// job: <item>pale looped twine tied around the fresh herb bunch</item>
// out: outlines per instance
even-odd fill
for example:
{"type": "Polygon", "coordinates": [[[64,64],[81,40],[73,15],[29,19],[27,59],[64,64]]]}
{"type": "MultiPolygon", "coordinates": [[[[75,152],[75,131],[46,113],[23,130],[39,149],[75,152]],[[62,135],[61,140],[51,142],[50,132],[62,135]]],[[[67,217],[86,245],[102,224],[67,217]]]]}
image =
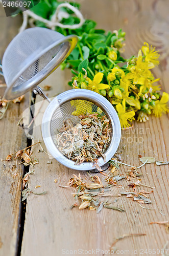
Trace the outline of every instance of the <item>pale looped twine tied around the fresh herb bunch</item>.
{"type": "Polygon", "coordinates": [[[53,14],[51,20],[42,18],[30,10],[24,11],[22,14],[23,14],[23,23],[19,29],[19,33],[27,28],[29,16],[32,17],[31,26],[33,23],[32,21],[39,20],[40,22],[43,22],[46,25],[46,27],[48,27],[52,30],[54,30],[55,27],[60,27],[60,28],[65,28],[65,29],[77,29],[77,28],[80,28],[83,25],[83,23],[85,22],[85,19],[84,19],[82,13],[76,7],[70,5],[69,3],[60,4],[57,7],[55,13],[53,14]],[[62,7],[66,7],[68,9],[70,9],[71,11],[73,11],[76,14],[76,16],[80,19],[80,23],[74,24],[74,25],[64,25],[64,24],[58,22],[60,8],[62,8],[62,7]]]}

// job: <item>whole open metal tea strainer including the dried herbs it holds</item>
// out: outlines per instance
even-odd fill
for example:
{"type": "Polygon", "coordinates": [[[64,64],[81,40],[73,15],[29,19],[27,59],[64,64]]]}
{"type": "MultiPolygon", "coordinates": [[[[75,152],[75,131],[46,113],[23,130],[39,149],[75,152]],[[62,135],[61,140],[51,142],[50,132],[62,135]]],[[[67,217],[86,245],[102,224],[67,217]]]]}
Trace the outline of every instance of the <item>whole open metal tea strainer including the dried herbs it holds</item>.
{"type": "Polygon", "coordinates": [[[5,97],[11,100],[32,89],[49,101],[42,120],[47,150],[69,168],[100,170],[116,152],[121,135],[111,103],[85,89],[66,91],[50,101],[37,86],[70,54],[76,43],[74,35],[65,37],[45,28],[31,28],[18,34],[2,61],[7,83],[5,97]]]}

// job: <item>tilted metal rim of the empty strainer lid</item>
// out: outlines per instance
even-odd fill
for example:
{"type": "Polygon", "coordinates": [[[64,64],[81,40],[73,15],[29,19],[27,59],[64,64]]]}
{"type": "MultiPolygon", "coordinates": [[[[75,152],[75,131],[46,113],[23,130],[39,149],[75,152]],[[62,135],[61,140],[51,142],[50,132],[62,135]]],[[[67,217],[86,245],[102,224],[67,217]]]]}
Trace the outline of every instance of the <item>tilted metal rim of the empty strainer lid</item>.
{"type": "MultiPolygon", "coordinates": [[[[4,94],[5,99],[12,100],[12,99],[18,98],[21,95],[32,90],[34,87],[36,87],[37,84],[42,82],[47,76],[49,76],[53,71],[55,71],[60,66],[60,64],[69,56],[71,51],[74,50],[74,48],[77,44],[77,41],[78,41],[78,37],[76,35],[68,35],[68,36],[63,35],[62,39],[54,42],[49,47],[45,48],[41,53],[36,55],[32,59],[32,61],[29,62],[28,65],[24,66],[23,69],[21,69],[20,72],[17,73],[16,76],[12,79],[11,84],[8,85],[8,87],[5,91],[5,94],[4,94]],[[31,79],[24,82],[24,84],[22,83],[19,86],[17,86],[16,88],[13,88],[13,86],[14,86],[15,82],[17,81],[17,79],[19,78],[19,76],[23,72],[25,72],[40,56],[42,56],[43,54],[45,54],[47,51],[51,50],[52,48],[61,45],[65,41],[70,42],[70,48],[67,51],[66,55],[59,62],[57,61],[57,55],[56,55],[39,73],[37,73],[31,79]]],[[[4,53],[4,56],[5,56],[5,53],[4,53]]],[[[3,62],[2,62],[2,64],[3,64],[3,62]]]]}

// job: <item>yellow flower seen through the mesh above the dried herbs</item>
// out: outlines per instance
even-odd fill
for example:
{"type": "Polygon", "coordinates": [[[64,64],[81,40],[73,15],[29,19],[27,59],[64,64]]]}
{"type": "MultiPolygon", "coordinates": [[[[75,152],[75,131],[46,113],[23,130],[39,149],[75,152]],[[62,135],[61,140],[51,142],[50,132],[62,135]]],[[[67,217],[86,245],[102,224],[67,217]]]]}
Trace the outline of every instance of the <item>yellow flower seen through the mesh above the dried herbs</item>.
{"type": "Polygon", "coordinates": [[[71,115],[80,116],[86,114],[92,114],[92,103],[83,99],[70,100],[70,104],[76,108],[71,115]]]}

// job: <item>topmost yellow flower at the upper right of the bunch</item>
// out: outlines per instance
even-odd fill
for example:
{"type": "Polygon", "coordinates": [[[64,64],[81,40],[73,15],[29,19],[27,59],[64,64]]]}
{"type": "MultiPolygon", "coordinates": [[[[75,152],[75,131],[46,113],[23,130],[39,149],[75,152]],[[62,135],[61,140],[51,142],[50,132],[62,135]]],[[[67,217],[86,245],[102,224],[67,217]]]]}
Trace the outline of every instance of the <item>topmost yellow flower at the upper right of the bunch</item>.
{"type": "Polygon", "coordinates": [[[145,60],[150,63],[152,68],[154,68],[155,65],[159,65],[159,53],[155,50],[155,47],[152,46],[149,47],[149,44],[147,42],[144,42],[144,45],[142,46],[141,50],[143,54],[146,56],[145,60]]]}

